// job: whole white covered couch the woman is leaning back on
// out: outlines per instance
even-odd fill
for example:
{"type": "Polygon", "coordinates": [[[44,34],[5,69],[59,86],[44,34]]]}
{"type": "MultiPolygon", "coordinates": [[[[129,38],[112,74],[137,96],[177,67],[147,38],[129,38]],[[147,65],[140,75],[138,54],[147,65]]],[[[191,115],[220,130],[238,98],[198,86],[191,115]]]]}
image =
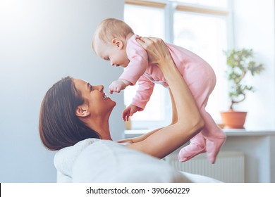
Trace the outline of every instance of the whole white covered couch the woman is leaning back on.
{"type": "Polygon", "coordinates": [[[219,182],[198,174],[178,172],[163,160],[114,141],[85,139],[54,156],[57,182],[219,182]]]}

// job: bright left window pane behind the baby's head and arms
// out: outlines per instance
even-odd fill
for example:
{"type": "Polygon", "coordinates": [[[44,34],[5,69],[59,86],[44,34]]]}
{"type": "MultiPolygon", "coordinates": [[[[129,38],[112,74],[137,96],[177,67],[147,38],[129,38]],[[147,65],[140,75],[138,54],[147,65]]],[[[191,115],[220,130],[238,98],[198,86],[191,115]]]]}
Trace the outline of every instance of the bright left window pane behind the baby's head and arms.
{"type": "MultiPolygon", "coordinates": [[[[161,37],[164,39],[164,9],[145,6],[125,5],[124,20],[133,28],[135,34],[142,37],[161,37]]],[[[135,96],[138,85],[127,87],[124,91],[124,103],[130,105],[135,96]]],[[[165,99],[166,89],[160,85],[155,85],[154,92],[147,103],[145,110],[135,113],[131,120],[133,128],[138,125],[140,128],[149,128],[149,121],[161,121],[165,119],[165,99]],[[135,124],[135,121],[142,121],[135,124]],[[144,124],[142,124],[144,123],[144,124]]],[[[154,124],[156,127],[156,124],[154,124]]]]}

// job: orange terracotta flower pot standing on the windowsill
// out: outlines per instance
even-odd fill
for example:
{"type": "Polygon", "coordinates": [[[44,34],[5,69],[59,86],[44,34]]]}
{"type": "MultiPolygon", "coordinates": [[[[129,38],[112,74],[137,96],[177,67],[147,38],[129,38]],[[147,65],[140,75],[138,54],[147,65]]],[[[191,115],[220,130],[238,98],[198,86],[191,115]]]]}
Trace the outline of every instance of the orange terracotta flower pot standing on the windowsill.
{"type": "Polygon", "coordinates": [[[228,129],[244,129],[245,118],[247,112],[229,110],[221,112],[221,120],[223,121],[224,127],[228,129]]]}

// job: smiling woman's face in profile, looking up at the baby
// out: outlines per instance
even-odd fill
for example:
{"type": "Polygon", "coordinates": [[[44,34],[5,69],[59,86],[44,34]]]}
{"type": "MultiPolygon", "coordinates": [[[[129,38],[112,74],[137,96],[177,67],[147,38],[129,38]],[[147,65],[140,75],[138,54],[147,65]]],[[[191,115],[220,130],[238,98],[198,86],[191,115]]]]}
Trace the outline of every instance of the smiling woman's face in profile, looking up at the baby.
{"type": "Polygon", "coordinates": [[[89,106],[91,115],[105,115],[111,113],[111,110],[116,106],[116,102],[106,96],[102,85],[92,86],[83,80],[73,79],[75,88],[80,91],[85,103],[89,106]]]}

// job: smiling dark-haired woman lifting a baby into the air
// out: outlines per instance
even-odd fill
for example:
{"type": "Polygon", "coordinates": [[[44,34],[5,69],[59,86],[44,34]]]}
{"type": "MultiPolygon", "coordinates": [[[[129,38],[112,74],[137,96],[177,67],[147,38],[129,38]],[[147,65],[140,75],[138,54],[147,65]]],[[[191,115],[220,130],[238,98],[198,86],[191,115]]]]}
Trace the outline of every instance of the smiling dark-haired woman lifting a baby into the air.
{"type": "MultiPolygon", "coordinates": [[[[150,63],[164,73],[172,94],[173,121],[156,129],[126,147],[164,158],[200,132],[204,122],[183,77],[176,69],[161,39],[140,38],[150,63]]],[[[44,146],[60,150],[85,139],[111,141],[109,116],[116,103],[104,94],[102,85],[93,86],[83,80],[66,77],[47,91],[42,101],[39,134],[44,146]]]]}

